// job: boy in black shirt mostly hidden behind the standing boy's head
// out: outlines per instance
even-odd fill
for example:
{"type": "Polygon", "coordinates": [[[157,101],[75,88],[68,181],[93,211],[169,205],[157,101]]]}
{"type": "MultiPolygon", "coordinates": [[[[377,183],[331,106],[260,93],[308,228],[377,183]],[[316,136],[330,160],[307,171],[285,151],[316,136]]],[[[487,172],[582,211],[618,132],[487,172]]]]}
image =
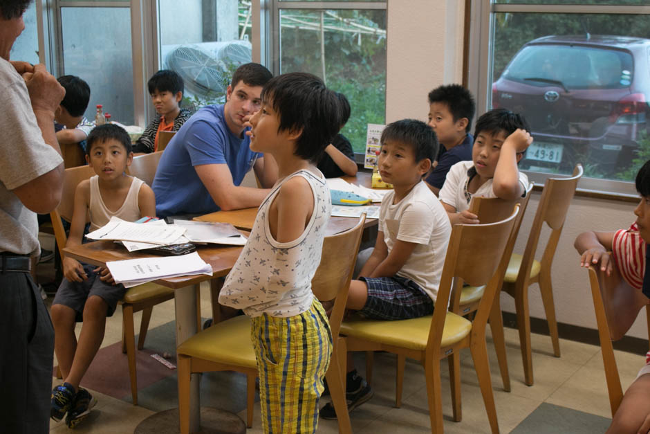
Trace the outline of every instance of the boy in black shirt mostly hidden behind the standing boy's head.
{"type": "MultiPolygon", "coordinates": [[[[350,103],[343,93],[337,92],[341,104],[341,128],[350,118],[350,103]]],[[[357,163],[354,161],[354,151],[350,141],[343,134],[336,134],[332,143],[327,145],[325,153],[316,166],[326,178],[337,178],[344,175],[354,177],[357,174],[357,163]]]]}

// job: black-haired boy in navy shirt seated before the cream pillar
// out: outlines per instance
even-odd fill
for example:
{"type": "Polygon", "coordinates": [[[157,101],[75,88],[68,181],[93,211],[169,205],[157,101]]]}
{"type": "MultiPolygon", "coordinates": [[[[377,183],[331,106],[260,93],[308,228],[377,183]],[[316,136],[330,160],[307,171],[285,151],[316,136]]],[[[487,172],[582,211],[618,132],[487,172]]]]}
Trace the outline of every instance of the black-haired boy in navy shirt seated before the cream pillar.
{"type": "Polygon", "coordinates": [[[447,84],[429,92],[429,126],[434,129],[440,150],[433,170],[425,179],[427,186],[438,195],[443,188],[449,168],[458,161],[472,159],[470,134],[476,103],[472,93],[460,84],[447,84]]]}

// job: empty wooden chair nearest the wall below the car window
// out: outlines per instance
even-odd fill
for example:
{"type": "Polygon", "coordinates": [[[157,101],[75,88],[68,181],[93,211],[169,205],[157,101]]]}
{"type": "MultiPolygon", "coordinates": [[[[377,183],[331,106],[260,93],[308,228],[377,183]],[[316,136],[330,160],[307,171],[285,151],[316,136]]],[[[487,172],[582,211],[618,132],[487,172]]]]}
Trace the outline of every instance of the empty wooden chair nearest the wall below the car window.
{"type": "Polygon", "coordinates": [[[582,165],[577,164],[573,176],[568,178],[548,178],[541,192],[537,213],[532,221],[528,234],[528,242],[523,255],[513,253],[508,269],[505,271],[501,289],[514,298],[517,311],[517,326],[519,327],[519,342],[523,359],[524,382],[532,386],[532,354],[530,349],[530,314],[528,312],[528,287],[539,283],[541,298],[544,302],[546,320],[553,342],[553,354],[559,357],[559,337],[557,336],[557,321],[555,320],[555,305],[553,303],[553,286],[550,280],[550,269],[553,265],[555,248],[564,227],[564,219],[573,199],[577,183],[582,177],[582,165]],[[541,261],[535,260],[535,252],[539,243],[544,223],[551,232],[546,242],[541,261]]]}

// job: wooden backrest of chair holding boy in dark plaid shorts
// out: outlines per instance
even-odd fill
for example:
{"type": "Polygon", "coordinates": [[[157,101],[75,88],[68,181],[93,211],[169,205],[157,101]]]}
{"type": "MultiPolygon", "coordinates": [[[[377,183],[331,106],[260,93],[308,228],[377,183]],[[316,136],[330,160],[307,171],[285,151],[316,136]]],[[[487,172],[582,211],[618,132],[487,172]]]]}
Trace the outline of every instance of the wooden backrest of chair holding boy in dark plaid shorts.
{"type": "MultiPolygon", "coordinates": [[[[483,327],[485,327],[490,307],[492,307],[492,300],[490,299],[487,309],[483,300],[490,298],[490,293],[492,297],[496,293],[496,284],[499,280],[499,275],[496,273],[497,267],[505,260],[503,251],[508,244],[518,213],[519,205],[517,204],[507,219],[489,224],[456,224],[452,226],[452,235],[449,238],[436,305],[447,306],[452,285],[461,284],[459,283],[461,281],[467,282],[473,287],[487,285],[481,304],[479,304],[479,310],[474,317],[474,323],[483,320],[483,327]]],[[[440,347],[446,317],[447,309],[434,309],[427,351],[440,347]]]]}

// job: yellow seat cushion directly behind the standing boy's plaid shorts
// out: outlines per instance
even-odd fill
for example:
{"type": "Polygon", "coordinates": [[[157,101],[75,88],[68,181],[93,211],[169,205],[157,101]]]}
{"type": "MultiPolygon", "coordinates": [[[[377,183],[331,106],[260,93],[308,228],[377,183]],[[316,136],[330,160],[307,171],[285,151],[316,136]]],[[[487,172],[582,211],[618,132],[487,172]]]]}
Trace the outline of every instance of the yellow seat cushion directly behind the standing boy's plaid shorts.
{"type": "Polygon", "coordinates": [[[198,332],[180,344],[176,353],[244,368],[257,368],[250,341],[250,318],[245,315],[216,323],[209,329],[198,332]]]}

